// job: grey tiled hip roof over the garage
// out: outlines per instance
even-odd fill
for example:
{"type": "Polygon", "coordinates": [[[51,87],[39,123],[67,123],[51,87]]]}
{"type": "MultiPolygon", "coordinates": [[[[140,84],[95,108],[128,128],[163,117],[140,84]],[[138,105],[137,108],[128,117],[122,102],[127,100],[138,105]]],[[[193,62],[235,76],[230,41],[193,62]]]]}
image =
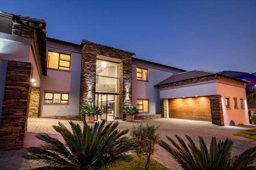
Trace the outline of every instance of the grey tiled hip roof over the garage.
{"type": "Polygon", "coordinates": [[[220,73],[215,72],[215,71],[195,69],[195,70],[186,71],[186,72],[183,72],[183,73],[174,74],[174,75],[170,76],[169,78],[163,80],[162,82],[159,82],[155,86],[174,83],[174,82],[180,82],[180,81],[184,81],[184,80],[188,80],[188,79],[194,79],[194,78],[198,78],[198,77],[213,76],[213,75],[220,76],[220,77],[225,77],[225,78],[229,78],[229,79],[234,79],[234,80],[239,81],[239,82],[246,82],[244,80],[236,79],[234,77],[229,77],[229,76],[220,74],[220,73]]]}

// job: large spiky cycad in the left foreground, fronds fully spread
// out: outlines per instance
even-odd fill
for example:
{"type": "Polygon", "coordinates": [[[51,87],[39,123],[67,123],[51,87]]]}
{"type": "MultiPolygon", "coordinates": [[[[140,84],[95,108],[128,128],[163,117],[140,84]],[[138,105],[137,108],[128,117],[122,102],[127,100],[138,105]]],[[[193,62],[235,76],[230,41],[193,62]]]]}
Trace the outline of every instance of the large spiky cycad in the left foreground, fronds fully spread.
{"type": "Polygon", "coordinates": [[[61,134],[65,143],[48,134],[36,137],[46,143],[40,147],[28,148],[29,154],[25,159],[45,162],[44,167],[36,170],[101,170],[112,168],[119,161],[131,161],[132,157],[125,154],[136,149],[132,139],[124,136],[128,130],[116,129],[118,122],[105,125],[96,122],[94,126],[84,122],[83,130],[78,124],[69,122],[72,131],[61,122],[52,127],[61,134]]]}

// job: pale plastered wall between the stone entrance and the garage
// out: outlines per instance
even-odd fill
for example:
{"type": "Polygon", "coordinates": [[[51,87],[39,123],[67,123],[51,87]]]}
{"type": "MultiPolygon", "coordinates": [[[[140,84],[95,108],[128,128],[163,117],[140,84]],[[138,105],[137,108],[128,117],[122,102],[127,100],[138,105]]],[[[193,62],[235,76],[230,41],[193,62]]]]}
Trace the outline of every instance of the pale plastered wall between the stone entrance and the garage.
{"type": "MultiPolygon", "coordinates": [[[[157,83],[167,79],[172,74],[181,71],[164,68],[157,65],[152,65],[144,62],[133,61],[132,64],[132,104],[137,107],[137,99],[148,99],[149,113],[145,114],[158,114],[159,113],[159,93],[158,88],[154,87],[157,83]],[[137,80],[136,68],[148,69],[148,82],[137,80]]],[[[144,114],[144,113],[140,113],[144,114]]]]}

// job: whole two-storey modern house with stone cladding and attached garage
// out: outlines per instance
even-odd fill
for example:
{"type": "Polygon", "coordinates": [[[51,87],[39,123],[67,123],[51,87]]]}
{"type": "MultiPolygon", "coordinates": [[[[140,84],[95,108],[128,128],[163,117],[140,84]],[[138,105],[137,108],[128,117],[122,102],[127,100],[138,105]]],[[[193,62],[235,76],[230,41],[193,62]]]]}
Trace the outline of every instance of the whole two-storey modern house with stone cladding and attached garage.
{"type": "Polygon", "coordinates": [[[36,18],[0,12],[0,23],[0,150],[22,147],[28,116],[80,120],[84,102],[100,108],[95,120],[123,120],[123,108],[133,105],[137,119],[249,124],[244,80],[88,40],[56,40],[36,18]]]}

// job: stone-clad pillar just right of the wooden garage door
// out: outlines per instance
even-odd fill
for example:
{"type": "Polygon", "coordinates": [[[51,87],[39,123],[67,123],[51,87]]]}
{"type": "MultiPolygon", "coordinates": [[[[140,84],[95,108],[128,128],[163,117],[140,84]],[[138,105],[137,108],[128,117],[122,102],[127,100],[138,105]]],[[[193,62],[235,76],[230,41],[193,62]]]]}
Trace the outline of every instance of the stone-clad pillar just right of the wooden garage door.
{"type": "Polygon", "coordinates": [[[221,102],[221,95],[209,96],[212,114],[212,124],[224,126],[223,109],[221,102]]]}

